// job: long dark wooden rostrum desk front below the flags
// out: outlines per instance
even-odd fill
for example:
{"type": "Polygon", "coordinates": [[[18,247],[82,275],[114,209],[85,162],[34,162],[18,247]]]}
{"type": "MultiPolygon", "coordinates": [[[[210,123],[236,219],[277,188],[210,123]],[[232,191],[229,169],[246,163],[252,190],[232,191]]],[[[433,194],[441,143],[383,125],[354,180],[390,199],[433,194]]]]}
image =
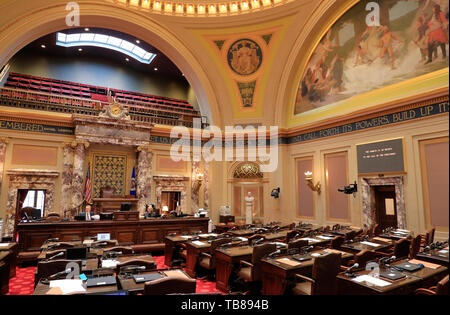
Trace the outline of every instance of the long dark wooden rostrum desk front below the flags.
{"type": "Polygon", "coordinates": [[[171,233],[189,234],[208,231],[209,218],[141,219],[130,221],[61,221],[17,224],[21,251],[38,251],[50,238],[60,241],[86,239],[98,233],[110,233],[119,244],[163,244],[171,233]]]}

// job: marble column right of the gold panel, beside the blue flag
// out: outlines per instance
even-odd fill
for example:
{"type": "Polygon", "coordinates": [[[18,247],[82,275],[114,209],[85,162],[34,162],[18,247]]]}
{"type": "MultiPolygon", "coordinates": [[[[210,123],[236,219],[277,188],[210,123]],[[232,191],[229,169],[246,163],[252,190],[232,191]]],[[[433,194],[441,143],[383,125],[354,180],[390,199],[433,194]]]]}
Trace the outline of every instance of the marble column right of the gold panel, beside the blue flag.
{"type": "Polygon", "coordinates": [[[150,205],[153,153],[148,146],[139,146],[137,151],[136,196],[139,199],[139,213],[144,214],[145,205],[150,205]]]}

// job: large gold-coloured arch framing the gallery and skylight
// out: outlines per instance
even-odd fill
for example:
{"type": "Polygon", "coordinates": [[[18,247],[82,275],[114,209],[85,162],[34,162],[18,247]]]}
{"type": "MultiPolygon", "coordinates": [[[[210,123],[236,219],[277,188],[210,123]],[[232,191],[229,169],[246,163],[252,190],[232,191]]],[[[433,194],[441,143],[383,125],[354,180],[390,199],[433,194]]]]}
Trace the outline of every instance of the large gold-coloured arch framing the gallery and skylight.
{"type": "MultiPolygon", "coordinates": [[[[23,1],[23,6],[30,6],[23,1]]],[[[19,6],[20,4],[15,4],[19,6]]],[[[0,68],[30,42],[67,29],[66,3],[31,5],[26,16],[15,16],[0,25],[0,68]]],[[[5,8],[8,11],[8,8],[5,8]]],[[[220,109],[214,89],[201,64],[183,42],[161,23],[148,15],[110,3],[83,3],[80,27],[99,27],[117,30],[140,38],[163,52],[185,75],[192,86],[202,115],[211,124],[222,126],[220,109]]]]}

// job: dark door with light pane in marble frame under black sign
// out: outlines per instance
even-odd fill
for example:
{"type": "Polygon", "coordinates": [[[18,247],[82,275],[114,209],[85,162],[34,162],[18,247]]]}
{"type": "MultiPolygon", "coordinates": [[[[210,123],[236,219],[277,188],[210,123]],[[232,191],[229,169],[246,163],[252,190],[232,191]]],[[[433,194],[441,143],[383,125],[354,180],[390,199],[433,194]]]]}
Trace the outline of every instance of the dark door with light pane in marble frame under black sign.
{"type": "Polygon", "coordinates": [[[398,228],[395,186],[374,186],[376,222],[381,229],[398,228]]]}

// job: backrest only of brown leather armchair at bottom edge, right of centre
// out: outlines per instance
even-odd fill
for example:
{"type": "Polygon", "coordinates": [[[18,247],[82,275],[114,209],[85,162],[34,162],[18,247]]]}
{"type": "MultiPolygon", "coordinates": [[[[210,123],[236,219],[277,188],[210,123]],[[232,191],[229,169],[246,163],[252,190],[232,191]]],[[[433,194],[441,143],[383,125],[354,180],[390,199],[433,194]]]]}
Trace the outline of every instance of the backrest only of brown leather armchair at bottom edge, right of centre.
{"type": "Polygon", "coordinates": [[[338,291],[337,274],[340,271],[341,254],[330,253],[316,257],[314,260],[312,278],[313,295],[336,295],[338,291]]]}

